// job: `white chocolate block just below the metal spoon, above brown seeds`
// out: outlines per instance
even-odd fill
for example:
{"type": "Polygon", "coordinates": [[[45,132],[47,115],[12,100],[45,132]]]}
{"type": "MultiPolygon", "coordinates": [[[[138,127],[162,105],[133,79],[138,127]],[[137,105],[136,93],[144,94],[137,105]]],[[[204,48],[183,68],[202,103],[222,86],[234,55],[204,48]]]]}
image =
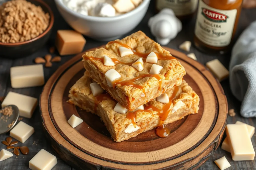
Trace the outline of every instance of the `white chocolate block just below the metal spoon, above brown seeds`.
{"type": "Polygon", "coordinates": [[[33,133],[35,132],[34,127],[20,121],[10,131],[10,136],[18,141],[24,143],[33,133]]]}

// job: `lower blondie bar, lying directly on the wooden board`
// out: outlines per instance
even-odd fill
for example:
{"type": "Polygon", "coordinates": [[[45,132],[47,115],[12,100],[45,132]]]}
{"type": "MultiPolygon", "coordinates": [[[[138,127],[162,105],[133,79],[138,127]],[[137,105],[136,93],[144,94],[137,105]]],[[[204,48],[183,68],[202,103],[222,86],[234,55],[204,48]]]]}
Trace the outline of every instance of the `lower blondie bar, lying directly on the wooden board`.
{"type": "MultiPolygon", "coordinates": [[[[163,104],[154,99],[142,108],[140,107],[140,110],[127,111],[124,114],[114,111],[117,101],[109,94],[103,93],[93,96],[90,88],[92,82],[89,72],[85,72],[84,76],[71,87],[68,102],[100,116],[116,142],[127,140],[153,129],[159,126],[161,122],[167,124],[180,120],[184,116],[197,113],[199,109],[199,97],[185,80],[182,81],[180,86],[166,92],[168,97],[173,98],[169,102],[173,104],[171,111],[164,111],[164,107],[169,103],[163,104]],[[145,110],[143,110],[144,107],[145,110]]],[[[159,136],[159,134],[157,135],[159,136]]]]}

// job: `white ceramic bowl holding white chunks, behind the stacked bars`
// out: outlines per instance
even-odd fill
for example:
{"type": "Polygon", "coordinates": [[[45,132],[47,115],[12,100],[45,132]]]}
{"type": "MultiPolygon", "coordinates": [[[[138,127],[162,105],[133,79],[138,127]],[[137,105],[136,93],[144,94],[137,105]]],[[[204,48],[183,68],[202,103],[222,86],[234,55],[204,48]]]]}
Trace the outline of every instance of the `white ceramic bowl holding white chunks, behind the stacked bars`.
{"type": "Polygon", "coordinates": [[[55,3],[74,30],[99,41],[110,41],[130,32],[141,22],[150,0],[143,0],[134,10],[115,17],[85,16],[69,9],[63,0],[55,0],[55,3]]]}

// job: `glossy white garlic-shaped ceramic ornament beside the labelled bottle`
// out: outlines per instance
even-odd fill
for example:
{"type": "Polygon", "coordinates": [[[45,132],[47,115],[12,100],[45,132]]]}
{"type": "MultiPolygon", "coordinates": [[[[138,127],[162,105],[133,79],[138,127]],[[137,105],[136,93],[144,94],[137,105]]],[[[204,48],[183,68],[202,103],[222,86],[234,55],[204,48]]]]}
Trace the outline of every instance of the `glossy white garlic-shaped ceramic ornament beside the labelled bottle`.
{"type": "Polygon", "coordinates": [[[182,30],[181,21],[176,18],[172,9],[162,9],[148,20],[148,27],[161,45],[168,44],[182,30]]]}

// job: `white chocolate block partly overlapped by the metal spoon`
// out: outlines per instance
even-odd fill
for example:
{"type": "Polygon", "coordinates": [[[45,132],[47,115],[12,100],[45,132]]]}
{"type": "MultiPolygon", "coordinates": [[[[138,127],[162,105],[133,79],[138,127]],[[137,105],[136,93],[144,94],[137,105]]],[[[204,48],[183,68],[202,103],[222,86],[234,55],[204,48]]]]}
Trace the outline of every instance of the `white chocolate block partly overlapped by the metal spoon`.
{"type": "Polygon", "coordinates": [[[19,108],[19,116],[31,118],[37,106],[37,99],[9,91],[2,103],[2,108],[10,104],[19,108]]]}

